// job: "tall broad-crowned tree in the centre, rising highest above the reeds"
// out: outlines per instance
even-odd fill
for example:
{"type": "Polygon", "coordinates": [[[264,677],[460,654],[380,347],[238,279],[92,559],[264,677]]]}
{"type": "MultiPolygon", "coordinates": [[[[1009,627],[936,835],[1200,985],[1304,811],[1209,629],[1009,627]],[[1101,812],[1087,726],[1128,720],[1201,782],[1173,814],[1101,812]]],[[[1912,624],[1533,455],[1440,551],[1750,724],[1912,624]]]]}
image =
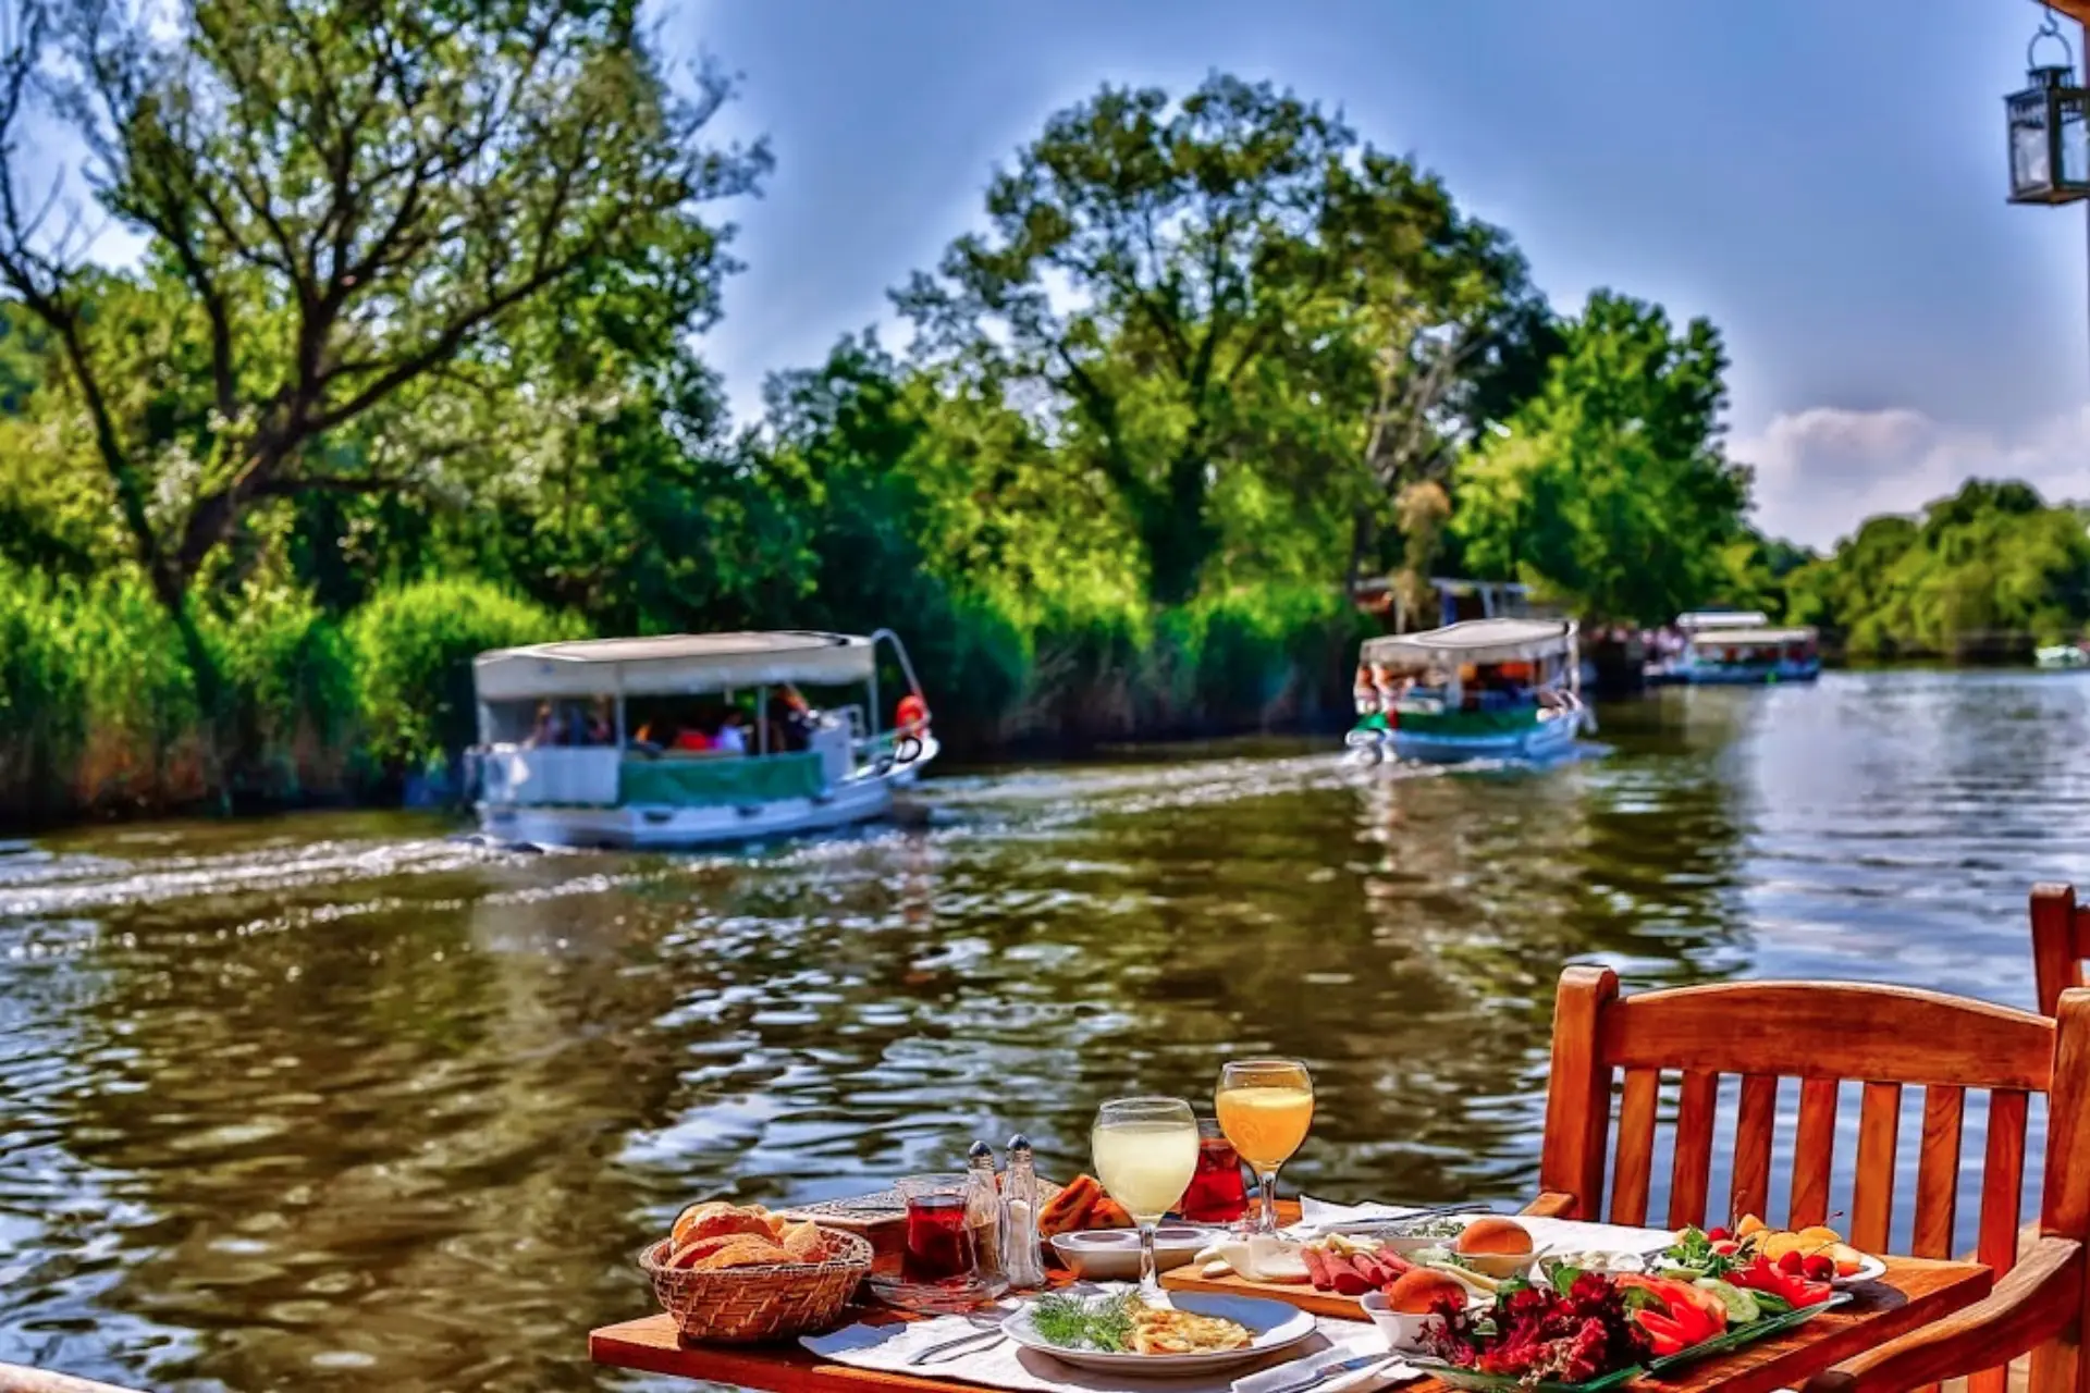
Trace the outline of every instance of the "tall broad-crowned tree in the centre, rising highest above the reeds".
{"type": "Polygon", "coordinates": [[[1290,497],[1346,528],[1423,426],[1530,372],[1545,320],[1507,238],[1442,184],[1237,77],[1053,115],[989,186],[986,223],[897,303],[932,361],[1112,485],[1164,604],[1223,547],[1216,499],[1290,497]]]}

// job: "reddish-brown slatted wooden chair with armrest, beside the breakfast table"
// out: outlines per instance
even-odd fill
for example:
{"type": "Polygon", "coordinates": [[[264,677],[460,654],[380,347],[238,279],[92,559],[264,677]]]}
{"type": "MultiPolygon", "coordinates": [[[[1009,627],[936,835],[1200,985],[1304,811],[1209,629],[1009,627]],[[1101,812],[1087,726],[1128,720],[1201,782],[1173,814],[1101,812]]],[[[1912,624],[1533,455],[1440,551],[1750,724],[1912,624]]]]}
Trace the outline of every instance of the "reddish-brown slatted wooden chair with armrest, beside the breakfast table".
{"type": "MultiPolygon", "coordinates": [[[[1914,1257],[1950,1257],[1969,1090],[1990,1094],[1981,1159],[1979,1259],[1996,1293],[1839,1370],[1820,1391],[1891,1393],[1973,1374],[1973,1393],[2002,1393],[2002,1364],[2034,1351],[2031,1393],[2071,1387],[2090,1238],[2090,992],[2067,994],[2061,1019],[1937,992],[1858,984],[1743,982],[1618,994],[1603,967],[1561,973],[1553,1076],[1532,1213],[1645,1224],[1664,1071],[1680,1073],[1668,1224],[1705,1224],[1720,1076],[1739,1078],[1733,1182],[1720,1218],[1768,1215],[1779,1080],[1797,1080],[1791,1228],[1829,1215],[1837,1088],[1862,1084],[1848,1232],[1887,1247],[1894,1151],[1904,1088],[1923,1088],[1923,1151],[1912,1197],[1914,1257]],[[1618,1144],[1611,1096],[1618,1084],[1618,1144]],[[2025,1113],[2048,1092],[2040,1238],[2017,1247],[2025,1113]]],[[[2090,1362],[2086,1362],[2090,1364],[2090,1362]]],[[[2077,1393],[2090,1393],[2084,1385],[2077,1393]]]]}

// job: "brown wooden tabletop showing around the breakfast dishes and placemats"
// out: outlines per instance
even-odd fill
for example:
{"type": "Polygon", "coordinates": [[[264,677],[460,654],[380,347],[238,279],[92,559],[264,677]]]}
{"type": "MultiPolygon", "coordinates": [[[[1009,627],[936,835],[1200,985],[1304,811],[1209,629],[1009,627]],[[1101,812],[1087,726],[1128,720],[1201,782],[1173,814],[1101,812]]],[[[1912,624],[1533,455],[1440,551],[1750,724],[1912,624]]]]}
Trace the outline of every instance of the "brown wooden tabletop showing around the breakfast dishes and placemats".
{"type": "MultiPolygon", "coordinates": [[[[1810,1374],[1881,1341],[1950,1316],[1988,1295],[1994,1274],[1979,1264],[1889,1257],[1887,1274],[1852,1289],[1852,1301],[1781,1337],[1689,1364],[1668,1378],[1639,1378],[1626,1389],[1647,1393],[1772,1393],[1799,1387],[1810,1374]]],[[[869,1320],[901,1320],[890,1312],[869,1320]]],[[[669,1316],[627,1320],[587,1337],[587,1357],[648,1374],[679,1374],[771,1393],[951,1393],[978,1385],[953,1378],[890,1374],[821,1360],[798,1343],[686,1345],[669,1316]]],[[[1158,1387],[1158,1385],[1147,1385],[1158,1387]]],[[[1434,1378],[1398,1385],[1404,1393],[1450,1393],[1434,1378]]]]}

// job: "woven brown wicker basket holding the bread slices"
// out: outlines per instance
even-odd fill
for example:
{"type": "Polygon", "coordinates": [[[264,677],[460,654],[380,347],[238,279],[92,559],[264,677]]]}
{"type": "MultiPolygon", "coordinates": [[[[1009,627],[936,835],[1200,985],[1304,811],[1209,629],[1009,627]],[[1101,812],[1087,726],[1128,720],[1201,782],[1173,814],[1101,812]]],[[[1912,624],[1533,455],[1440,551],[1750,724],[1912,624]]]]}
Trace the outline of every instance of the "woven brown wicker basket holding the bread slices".
{"type": "Polygon", "coordinates": [[[811,1264],[686,1272],[667,1266],[673,1243],[663,1241],[640,1253],[640,1268],[686,1339],[782,1341],[832,1326],[872,1270],[872,1245],[857,1234],[821,1228],[819,1236],[821,1259],[811,1264]]]}

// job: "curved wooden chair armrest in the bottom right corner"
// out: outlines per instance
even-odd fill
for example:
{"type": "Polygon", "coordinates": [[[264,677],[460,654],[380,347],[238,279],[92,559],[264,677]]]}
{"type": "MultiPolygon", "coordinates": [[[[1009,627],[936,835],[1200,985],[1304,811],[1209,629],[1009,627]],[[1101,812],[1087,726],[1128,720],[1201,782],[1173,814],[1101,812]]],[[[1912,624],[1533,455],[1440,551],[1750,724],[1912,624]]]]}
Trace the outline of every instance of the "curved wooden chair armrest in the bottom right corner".
{"type": "Polygon", "coordinates": [[[1822,1370],[1802,1393],[1904,1393],[1996,1368],[2073,1326],[2082,1307],[2082,1245],[2040,1238],[1985,1301],[1822,1370]]]}

